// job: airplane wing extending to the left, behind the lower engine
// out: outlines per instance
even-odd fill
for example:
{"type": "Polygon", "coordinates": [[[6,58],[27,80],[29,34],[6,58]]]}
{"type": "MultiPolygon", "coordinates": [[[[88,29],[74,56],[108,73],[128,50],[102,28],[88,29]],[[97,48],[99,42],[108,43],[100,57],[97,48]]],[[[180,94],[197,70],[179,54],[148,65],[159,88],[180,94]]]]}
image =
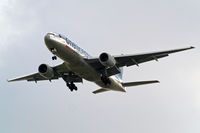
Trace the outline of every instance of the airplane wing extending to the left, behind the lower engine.
{"type": "MultiPolygon", "coordinates": [[[[68,80],[70,80],[70,82],[82,82],[82,78],[80,78],[77,75],[72,75],[69,74],[71,73],[71,71],[66,67],[66,64],[60,64],[57,65],[55,67],[52,67],[54,70],[54,77],[51,78],[50,80],[55,80],[58,79],[60,77],[63,78],[63,80],[65,80],[66,82],[68,82],[68,80]]],[[[33,73],[27,76],[23,76],[23,77],[19,77],[19,78],[14,78],[11,80],[8,80],[8,82],[13,82],[13,81],[21,81],[21,80],[27,80],[27,81],[42,81],[42,80],[49,80],[43,76],[41,76],[39,73],[33,73]]]]}

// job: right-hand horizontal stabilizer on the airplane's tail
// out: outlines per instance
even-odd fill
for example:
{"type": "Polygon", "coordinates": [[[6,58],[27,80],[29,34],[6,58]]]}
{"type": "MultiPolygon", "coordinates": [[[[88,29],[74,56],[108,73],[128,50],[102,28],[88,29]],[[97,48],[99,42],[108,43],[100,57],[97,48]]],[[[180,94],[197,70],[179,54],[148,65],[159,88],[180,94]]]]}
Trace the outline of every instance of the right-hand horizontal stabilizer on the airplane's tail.
{"type": "Polygon", "coordinates": [[[150,80],[150,81],[127,82],[127,83],[122,83],[122,86],[130,87],[130,86],[153,84],[153,83],[159,83],[159,81],[158,80],[150,80]]]}

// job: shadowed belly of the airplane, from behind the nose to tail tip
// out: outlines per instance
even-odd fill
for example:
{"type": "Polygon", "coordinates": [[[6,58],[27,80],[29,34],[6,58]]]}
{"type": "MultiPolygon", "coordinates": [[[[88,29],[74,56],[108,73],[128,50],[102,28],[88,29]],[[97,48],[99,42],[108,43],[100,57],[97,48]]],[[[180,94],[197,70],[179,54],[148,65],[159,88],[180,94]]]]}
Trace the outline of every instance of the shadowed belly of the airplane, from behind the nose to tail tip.
{"type": "Polygon", "coordinates": [[[109,77],[111,84],[105,85],[101,80],[101,75],[97,71],[95,71],[95,69],[93,69],[90,65],[88,65],[84,61],[83,57],[81,57],[77,53],[68,51],[64,45],[57,49],[59,51],[59,54],[57,56],[63,59],[66,62],[67,66],[76,75],[84,78],[85,80],[93,81],[103,88],[125,92],[125,89],[122,87],[121,83],[118,83],[118,81],[113,77],[109,77]]]}

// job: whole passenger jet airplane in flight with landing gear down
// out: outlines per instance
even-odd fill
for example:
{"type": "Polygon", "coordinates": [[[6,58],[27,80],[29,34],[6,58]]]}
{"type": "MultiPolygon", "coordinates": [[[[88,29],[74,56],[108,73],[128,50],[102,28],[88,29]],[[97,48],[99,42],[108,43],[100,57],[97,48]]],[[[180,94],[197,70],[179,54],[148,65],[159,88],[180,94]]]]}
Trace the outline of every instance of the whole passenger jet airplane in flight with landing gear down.
{"type": "Polygon", "coordinates": [[[107,91],[126,92],[126,87],[159,83],[159,81],[123,82],[122,75],[124,66],[139,66],[139,64],[144,62],[152,60],[158,61],[158,59],[167,57],[171,53],[194,48],[191,46],[167,51],[119,56],[112,56],[103,52],[99,57],[92,57],[62,34],[54,32],[47,33],[44,37],[44,42],[53,54],[52,60],[56,60],[59,57],[64,62],[54,67],[41,64],[38,67],[38,72],[11,79],[8,82],[27,80],[37,83],[37,81],[51,81],[62,78],[70,91],[77,91],[78,88],[74,83],[82,83],[83,79],[85,79],[100,86],[100,89],[93,91],[94,94],[107,91]]]}

